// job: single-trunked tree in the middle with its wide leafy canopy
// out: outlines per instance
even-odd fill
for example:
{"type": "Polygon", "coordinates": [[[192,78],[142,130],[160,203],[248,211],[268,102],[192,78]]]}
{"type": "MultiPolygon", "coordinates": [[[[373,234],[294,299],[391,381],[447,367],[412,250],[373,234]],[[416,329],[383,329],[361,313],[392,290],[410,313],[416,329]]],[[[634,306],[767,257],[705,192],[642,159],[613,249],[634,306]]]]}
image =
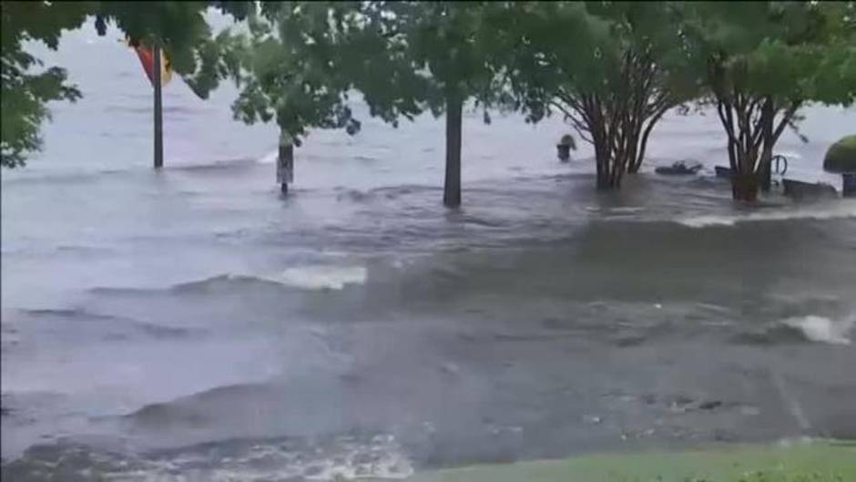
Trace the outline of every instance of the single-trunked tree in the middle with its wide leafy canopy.
{"type": "Polygon", "coordinates": [[[298,142],[309,128],[358,130],[352,92],[362,94],[372,117],[393,126],[451,108],[444,199],[456,205],[461,108],[471,98],[487,106],[499,92],[489,26],[496,9],[475,2],[262,2],[250,13],[249,34],[224,34],[199,49],[202,67],[189,83],[205,95],[233,78],[241,87],[236,118],[275,119],[298,142]]]}

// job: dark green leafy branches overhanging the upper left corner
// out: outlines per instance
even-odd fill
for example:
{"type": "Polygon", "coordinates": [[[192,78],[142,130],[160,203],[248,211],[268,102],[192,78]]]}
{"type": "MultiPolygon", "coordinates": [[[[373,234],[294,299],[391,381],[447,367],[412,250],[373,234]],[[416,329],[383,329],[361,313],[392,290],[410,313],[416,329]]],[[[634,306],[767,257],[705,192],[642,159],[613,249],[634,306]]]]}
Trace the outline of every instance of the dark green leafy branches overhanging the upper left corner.
{"type": "Polygon", "coordinates": [[[188,74],[197,67],[196,50],[210,36],[204,13],[209,7],[242,18],[250,2],[3,2],[2,108],[0,165],[24,165],[28,153],[41,146],[39,129],[50,117],[46,104],[74,101],[80,91],[66,82],[62,67],[44,67],[25,52],[27,41],[40,41],[56,50],[59,38],[92,22],[99,35],[115,25],[129,38],[162,46],[173,68],[188,74]]]}

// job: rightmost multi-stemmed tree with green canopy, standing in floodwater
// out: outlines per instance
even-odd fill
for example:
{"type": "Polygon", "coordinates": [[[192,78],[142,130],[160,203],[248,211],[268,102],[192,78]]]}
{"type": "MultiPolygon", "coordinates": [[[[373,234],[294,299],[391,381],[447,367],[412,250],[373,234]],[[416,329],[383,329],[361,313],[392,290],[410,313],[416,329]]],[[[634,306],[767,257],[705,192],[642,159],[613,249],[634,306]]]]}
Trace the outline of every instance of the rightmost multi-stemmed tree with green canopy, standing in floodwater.
{"type": "Polygon", "coordinates": [[[734,198],[755,200],[798,109],[856,98],[856,10],[852,2],[688,2],[681,13],[694,54],[688,69],[725,129],[734,198]]]}

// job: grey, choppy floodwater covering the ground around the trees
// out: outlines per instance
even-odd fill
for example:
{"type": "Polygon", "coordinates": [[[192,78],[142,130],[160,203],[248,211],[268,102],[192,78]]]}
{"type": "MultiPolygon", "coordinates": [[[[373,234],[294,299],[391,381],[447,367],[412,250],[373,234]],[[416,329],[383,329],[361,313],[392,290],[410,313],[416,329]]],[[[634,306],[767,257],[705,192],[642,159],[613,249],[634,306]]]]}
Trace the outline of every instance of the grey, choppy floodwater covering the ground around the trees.
{"type": "MultiPolygon", "coordinates": [[[[713,178],[712,116],[671,116],[645,172],[594,190],[560,119],[464,120],[464,207],[441,206],[443,119],[276,131],[150,87],[117,38],[67,34],[82,87],[2,179],[3,475],[402,478],[649,446],[856,436],[856,203],[713,178]],[[653,167],[705,163],[701,176],[653,167]]],[[[365,109],[357,108],[358,114],[365,109]]],[[[789,177],[856,112],[808,108],[789,177]]],[[[850,130],[848,130],[850,129],[850,130]]]]}

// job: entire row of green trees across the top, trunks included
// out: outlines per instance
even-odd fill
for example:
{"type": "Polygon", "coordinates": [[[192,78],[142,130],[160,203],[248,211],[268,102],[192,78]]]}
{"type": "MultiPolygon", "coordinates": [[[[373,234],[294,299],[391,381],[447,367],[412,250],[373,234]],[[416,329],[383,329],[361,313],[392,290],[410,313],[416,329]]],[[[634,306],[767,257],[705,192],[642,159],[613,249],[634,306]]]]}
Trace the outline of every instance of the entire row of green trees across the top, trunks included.
{"type": "Polygon", "coordinates": [[[605,190],[637,172],[668,110],[714,108],[734,198],[755,200],[769,189],[773,149],[785,128],[797,128],[799,108],[856,99],[856,2],[30,5],[2,7],[4,165],[37,147],[46,101],[79,96],[61,69],[30,73],[36,59],[21,41],[56,46],[62,28],[87,19],[164,46],[202,96],[236,82],[235,117],[275,121],[298,146],[312,128],[358,131],[354,92],[392,125],[444,114],[449,206],[461,203],[466,106],[483,109],[485,122],[494,109],[532,122],[561,115],[593,146],[605,190]],[[247,28],[211,36],[202,17],[211,6],[247,28]]]}

